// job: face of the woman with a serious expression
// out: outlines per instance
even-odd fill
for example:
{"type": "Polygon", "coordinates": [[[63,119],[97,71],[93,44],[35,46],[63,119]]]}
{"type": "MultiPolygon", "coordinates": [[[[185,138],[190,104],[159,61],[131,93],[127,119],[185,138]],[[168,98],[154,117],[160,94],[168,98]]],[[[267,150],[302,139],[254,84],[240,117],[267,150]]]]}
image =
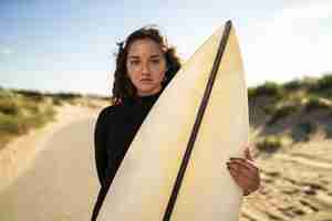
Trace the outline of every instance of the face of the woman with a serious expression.
{"type": "Polygon", "coordinates": [[[138,96],[156,94],[162,90],[166,60],[160,46],[153,40],[141,39],[131,43],[126,69],[138,96]]]}

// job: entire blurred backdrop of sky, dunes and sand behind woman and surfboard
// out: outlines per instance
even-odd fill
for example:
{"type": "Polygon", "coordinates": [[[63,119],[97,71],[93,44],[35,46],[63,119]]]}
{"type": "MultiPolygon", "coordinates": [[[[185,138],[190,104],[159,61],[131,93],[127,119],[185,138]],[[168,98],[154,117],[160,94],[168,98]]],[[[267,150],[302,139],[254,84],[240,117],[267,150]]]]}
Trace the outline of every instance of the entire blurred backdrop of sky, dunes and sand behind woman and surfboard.
{"type": "Polygon", "coordinates": [[[86,220],[97,189],[92,149],[68,149],[92,146],[92,118],[111,104],[116,42],[157,24],[185,62],[227,20],[242,52],[262,178],[240,220],[331,220],[329,0],[0,0],[0,220],[86,220]],[[61,172],[70,169],[75,178],[61,172]],[[82,198],[64,206],[71,194],[82,198]]]}

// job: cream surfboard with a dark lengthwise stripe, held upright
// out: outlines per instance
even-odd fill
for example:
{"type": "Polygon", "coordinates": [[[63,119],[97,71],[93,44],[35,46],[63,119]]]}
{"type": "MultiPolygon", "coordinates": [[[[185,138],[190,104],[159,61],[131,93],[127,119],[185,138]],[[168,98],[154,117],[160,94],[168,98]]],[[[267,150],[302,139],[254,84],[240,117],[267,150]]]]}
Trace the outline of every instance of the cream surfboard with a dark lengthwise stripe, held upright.
{"type": "Polygon", "coordinates": [[[243,65],[230,21],[183,65],[137,131],[97,220],[236,221],[226,162],[248,141],[243,65]]]}

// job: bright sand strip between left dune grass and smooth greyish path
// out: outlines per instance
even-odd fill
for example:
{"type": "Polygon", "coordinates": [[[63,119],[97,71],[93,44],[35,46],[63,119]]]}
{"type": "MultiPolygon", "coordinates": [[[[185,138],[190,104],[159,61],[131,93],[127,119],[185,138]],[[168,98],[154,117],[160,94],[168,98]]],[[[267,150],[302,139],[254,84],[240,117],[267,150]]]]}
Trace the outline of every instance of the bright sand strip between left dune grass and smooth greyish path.
{"type": "Polygon", "coordinates": [[[46,126],[30,130],[0,151],[0,192],[28,169],[45,147],[44,143],[49,140],[54,133],[61,130],[66,125],[86,117],[96,117],[98,110],[65,105],[58,108],[55,120],[46,126]]]}

